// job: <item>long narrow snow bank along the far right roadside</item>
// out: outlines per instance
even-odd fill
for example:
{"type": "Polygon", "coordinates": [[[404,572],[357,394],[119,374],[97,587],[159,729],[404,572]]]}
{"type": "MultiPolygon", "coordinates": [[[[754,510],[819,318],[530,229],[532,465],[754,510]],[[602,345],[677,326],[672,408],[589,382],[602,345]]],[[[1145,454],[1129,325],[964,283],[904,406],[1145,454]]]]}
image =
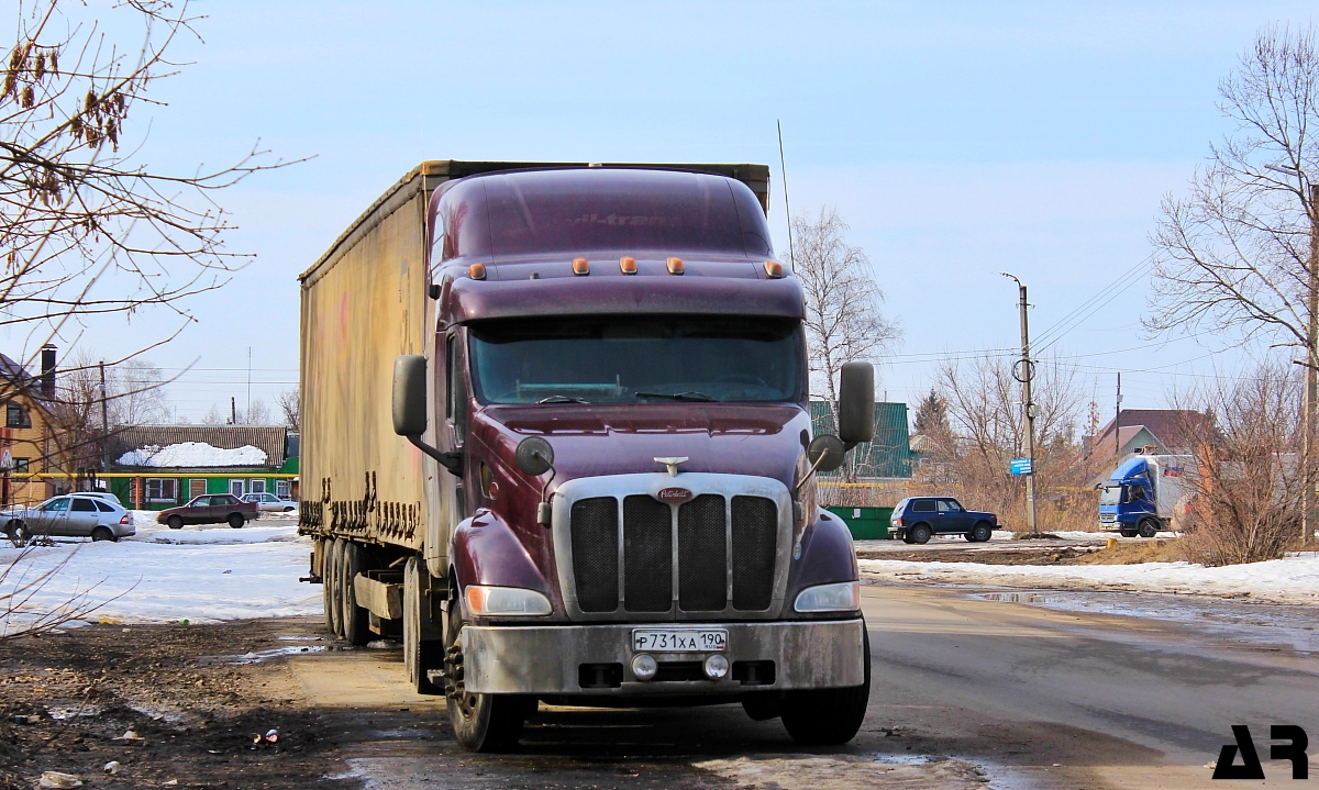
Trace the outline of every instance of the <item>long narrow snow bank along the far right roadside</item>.
{"type": "Polygon", "coordinates": [[[882,582],[1249,595],[1252,600],[1319,604],[1319,557],[1304,555],[1217,568],[1186,562],[1029,566],[893,559],[863,559],[860,567],[863,579],[882,582]]]}

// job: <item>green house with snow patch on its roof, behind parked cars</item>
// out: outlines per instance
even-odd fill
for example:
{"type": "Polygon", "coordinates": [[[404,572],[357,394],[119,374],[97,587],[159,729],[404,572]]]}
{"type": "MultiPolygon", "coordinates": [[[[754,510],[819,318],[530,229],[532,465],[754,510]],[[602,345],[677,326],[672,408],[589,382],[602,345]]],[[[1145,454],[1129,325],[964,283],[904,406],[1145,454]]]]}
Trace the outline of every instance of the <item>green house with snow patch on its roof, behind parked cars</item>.
{"type": "Polygon", "coordinates": [[[298,435],[282,425],[144,425],[112,431],[111,491],[173,508],[203,493],[297,497],[298,435]]]}

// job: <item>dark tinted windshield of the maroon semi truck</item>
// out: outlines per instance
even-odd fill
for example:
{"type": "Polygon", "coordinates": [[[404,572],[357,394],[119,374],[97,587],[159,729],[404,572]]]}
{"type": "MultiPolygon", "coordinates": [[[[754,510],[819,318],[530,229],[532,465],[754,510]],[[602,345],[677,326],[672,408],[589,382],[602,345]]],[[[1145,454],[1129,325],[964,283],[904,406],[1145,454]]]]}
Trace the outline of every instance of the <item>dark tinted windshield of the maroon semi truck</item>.
{"type": "Polygon", "coordinates": [[[468,334],[483,404],[799,401],[790,319],[592,317],[499,320],[468,334]]]}

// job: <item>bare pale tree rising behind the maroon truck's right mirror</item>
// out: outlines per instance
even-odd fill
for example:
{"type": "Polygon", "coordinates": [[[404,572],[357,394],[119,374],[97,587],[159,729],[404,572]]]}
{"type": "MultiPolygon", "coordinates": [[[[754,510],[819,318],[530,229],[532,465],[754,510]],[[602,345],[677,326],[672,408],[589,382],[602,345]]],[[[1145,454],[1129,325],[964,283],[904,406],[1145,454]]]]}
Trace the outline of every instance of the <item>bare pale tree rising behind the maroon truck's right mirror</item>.
{"type": "MultiPolygon", "coordinates": [[[[793,272],[806,301],[806,343],[813,396],[828,404],[836,425],[839,373],[845,363],[869,360],[902,336],[897,323],[880,313],[884,291],[871,261],[844,236],[847,223],[832,208],[811,220],[793,218],[793,272]]],[[[844,467],[852,479],[852,464],[844,467]]]]}

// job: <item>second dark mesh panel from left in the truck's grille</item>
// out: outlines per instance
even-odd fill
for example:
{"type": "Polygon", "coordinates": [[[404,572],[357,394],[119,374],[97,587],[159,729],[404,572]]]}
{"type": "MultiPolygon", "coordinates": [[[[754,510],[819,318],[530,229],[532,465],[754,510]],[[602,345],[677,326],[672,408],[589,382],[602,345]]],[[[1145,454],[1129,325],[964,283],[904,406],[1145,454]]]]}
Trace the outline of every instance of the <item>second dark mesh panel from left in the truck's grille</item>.
{"type": "Polygon", "coordinates": [[[673,608],[673,510],[649,496],[623,500],[623,588],[628,612],[673,608]]]}

